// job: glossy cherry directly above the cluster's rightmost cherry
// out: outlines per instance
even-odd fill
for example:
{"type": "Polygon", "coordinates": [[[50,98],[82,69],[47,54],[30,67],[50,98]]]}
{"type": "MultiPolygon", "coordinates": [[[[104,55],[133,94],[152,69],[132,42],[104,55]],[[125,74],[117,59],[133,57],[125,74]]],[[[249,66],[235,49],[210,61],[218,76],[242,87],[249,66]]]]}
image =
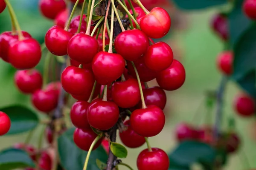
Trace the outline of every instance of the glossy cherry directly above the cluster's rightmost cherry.
{"type": "Polygon", "coordinates": [[[172,64],[172,48],[165,42],[157,42],[148,48],[143,57],[148,68],[153,71],[163,71],[172,64]]]}

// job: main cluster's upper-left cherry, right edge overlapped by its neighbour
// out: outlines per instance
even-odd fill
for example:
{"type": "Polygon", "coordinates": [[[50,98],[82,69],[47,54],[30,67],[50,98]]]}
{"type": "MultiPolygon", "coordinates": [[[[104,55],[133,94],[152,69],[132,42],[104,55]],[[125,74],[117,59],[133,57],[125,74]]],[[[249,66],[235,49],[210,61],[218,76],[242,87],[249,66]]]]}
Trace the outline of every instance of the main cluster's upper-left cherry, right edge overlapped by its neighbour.
{"type": "Polygon", "coordinates": [[[67,44],[72,36],[72,33],[60,26],[53,26],[45,34],[45,45],[52,54],[64,56],[67,54],[67,44]]]}

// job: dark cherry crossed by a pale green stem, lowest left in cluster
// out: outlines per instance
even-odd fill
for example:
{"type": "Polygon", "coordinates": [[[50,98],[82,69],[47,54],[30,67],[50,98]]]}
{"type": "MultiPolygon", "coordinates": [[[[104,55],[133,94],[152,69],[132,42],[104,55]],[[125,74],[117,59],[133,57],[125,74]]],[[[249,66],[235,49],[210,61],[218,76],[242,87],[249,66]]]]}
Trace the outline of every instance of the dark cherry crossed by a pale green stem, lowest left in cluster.
{"type": "MultiPolygon", "coordinates": [[[[93,143],[94,139],[98,135],[93,132],[91,128],[88,129],[79,129],[76,128],[73,138],[76,146],[78,146],[81,150],[88,151],[90,149],[90,145],[93,143]]],[[[93,150],[95,150],[99,145],[101,144],[102,139],[100,139],[95,146],[93,147],[93,150]]]]}

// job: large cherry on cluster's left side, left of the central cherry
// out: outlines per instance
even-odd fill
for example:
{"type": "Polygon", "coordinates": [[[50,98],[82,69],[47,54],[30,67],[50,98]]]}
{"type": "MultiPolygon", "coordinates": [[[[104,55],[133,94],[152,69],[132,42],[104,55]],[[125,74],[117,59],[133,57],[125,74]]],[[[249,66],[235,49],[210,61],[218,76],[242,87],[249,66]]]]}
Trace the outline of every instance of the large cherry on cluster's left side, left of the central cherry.
{"type": "Polygon", "coordinates": [[[94,81],[91,71],[72,65],[65,68],[61,74],[62,87],[67,93],[75,96],[90,96],[94,81]]]}

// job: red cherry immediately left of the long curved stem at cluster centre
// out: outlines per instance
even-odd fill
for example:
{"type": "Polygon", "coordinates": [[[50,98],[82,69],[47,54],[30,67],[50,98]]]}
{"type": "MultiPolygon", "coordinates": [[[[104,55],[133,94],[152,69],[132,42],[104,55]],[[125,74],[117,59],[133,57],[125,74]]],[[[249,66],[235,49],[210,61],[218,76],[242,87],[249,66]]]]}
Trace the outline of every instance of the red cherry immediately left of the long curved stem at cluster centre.
{"type": "Polygon", "coordinates": [[[140,89],[136,79],[115,82],[112,86],[112,99],[120,108],[131,108],[140,102],[140,89]]]}

